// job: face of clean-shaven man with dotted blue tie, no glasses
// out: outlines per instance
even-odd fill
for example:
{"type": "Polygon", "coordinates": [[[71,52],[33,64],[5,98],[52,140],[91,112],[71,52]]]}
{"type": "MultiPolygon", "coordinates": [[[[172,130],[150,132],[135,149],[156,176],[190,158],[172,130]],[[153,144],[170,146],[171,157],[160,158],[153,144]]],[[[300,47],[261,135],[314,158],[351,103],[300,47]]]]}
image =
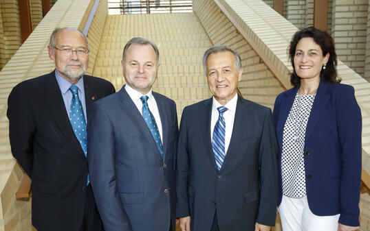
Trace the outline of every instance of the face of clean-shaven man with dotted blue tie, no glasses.
{"type": "Polygon", "coordinates": [[[124,80],[145,95],[151,90],[159,68],[157,54],[151,45],[130,45],[122,60],[124,80]]]}

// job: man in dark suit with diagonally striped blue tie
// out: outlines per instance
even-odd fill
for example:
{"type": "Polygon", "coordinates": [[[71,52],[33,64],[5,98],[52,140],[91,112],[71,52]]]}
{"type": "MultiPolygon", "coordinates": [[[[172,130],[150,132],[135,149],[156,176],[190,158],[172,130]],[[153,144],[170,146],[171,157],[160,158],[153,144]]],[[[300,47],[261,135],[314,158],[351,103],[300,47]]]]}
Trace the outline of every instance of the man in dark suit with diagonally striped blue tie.
{"type": "Polygon", "coordinates": [[[237,94],[239,54],[204,53],[213,97],[184,108],[177,151],[182,231],[270,230],[276,218],[277,145],[272,113],[237,94]]]}

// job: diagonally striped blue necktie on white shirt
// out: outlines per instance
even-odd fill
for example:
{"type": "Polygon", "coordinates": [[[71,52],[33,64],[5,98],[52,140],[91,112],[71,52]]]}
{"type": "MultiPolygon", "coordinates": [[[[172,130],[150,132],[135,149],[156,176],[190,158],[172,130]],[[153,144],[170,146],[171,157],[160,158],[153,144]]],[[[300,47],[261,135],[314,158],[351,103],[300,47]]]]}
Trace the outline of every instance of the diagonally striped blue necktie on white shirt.
{"type": "Polygon", "coordinates": [[[217,108],[219,110],[219,119],[216,122],[215,130],[213,130],[213,138],[212,138],[212,149],[213,154],[215,154],[215,160],[217,169],[221,169],[222,163],[225,159],[225,119],[224,119],[224,112],[228,110],[224,106],[217,108]]]}

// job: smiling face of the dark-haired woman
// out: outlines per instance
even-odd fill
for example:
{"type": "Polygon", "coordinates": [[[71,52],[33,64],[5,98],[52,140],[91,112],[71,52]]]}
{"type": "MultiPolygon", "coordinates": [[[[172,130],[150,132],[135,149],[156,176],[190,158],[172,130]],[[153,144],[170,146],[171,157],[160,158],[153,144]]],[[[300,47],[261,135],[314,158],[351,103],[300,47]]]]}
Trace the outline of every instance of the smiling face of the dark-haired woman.
{"type": "Polygon", "coordinates": [[[328,59],[329,53],[323,56],[314,38],[301,38],[294,53],[294,69],[303,81],[320,81],[320,71],[328,59]]]}

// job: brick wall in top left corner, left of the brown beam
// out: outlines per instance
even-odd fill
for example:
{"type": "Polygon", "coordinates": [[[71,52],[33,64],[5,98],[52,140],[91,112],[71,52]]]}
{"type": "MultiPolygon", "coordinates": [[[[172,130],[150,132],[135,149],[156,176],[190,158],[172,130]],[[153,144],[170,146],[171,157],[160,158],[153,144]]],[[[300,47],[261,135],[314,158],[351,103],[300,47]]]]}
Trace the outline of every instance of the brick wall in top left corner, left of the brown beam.
{"type": "Polygon", "coordinates": [[[0,13],[3,20],[4,58],[8,61],[21,46],[18,1],[0,0],[0,13]]]}

